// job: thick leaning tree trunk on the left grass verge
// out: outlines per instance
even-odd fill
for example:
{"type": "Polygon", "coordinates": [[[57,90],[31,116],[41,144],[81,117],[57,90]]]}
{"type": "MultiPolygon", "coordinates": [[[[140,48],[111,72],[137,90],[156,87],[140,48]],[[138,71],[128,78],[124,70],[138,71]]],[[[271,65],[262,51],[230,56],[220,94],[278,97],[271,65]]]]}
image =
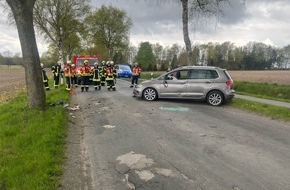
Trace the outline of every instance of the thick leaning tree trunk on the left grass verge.
{"type": "Polygon", "coordinates": [[[13,12],[18,29],[25,67],[28,107],[45,110],[45,91],[33,28],[33,6],[36,0],[6,1],[13,12]]]}

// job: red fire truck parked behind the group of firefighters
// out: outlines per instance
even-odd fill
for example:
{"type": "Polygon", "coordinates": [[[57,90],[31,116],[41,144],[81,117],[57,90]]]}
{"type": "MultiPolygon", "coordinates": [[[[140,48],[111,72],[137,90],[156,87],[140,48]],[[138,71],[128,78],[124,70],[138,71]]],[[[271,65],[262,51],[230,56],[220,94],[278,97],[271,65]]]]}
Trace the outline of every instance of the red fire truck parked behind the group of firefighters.
{"type": "MultiPolygon", "coordinates": [[[[73,56],[73,63],[76,66],[76,70],[77,70],[77,77],[78,77],[78,84],[80,84],[81,82],[81,72],[80,69],[82,67],[82,65],[84,64],[84,60],[88,60],[88,65],[91,66],[91,69],[94,68],[94,63],[98,63],[99,64],[99,56],[97,55],[75,55],[73,56]]],[[[92,81],[92,79],[90,79],[92,81]]]]}

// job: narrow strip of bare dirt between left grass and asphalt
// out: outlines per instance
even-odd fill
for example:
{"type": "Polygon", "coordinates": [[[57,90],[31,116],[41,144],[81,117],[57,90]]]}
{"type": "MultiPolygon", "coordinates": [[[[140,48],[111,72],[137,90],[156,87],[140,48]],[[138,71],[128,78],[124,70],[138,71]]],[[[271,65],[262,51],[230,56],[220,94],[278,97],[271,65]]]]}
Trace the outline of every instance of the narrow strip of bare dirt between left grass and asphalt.
{"type": "Polygon", "coordinates": [[[83,143],[84,126],[82,110],[78,107],[77,94],[71,96],[68,114],[66,160],[59,190],[92,189],[89,174],[90,168],[89,164],[86,164],[86,149],[83,143]]]}

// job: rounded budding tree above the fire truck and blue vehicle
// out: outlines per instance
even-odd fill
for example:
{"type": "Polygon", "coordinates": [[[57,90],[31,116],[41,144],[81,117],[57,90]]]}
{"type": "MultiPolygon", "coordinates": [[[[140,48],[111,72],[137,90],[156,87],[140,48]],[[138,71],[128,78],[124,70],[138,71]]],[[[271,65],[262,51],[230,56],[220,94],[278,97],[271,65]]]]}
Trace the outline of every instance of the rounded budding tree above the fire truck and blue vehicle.
{"type": "Polygon", "coordinates": [[[129,31],[133,23],[123,10],[102,5],[85,20],[88,34],[93,36],[95,45],[103,44],[110,58],[116,50],[129,46],[129,31]]]}

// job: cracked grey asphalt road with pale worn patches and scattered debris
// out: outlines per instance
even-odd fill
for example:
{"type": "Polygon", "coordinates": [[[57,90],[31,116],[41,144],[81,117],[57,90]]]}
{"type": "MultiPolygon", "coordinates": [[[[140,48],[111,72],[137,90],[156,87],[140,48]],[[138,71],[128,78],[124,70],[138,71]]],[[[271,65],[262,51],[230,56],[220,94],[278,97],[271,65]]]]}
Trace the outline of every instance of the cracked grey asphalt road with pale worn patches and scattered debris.
{"type": "Polygon", "coordinates": [[[75,90],[60,189],[290,189],[290,125],[228,105],[75,90]],[[79,106],[79,107],[78,107],[79,106]]]}

